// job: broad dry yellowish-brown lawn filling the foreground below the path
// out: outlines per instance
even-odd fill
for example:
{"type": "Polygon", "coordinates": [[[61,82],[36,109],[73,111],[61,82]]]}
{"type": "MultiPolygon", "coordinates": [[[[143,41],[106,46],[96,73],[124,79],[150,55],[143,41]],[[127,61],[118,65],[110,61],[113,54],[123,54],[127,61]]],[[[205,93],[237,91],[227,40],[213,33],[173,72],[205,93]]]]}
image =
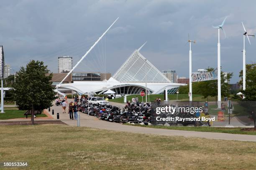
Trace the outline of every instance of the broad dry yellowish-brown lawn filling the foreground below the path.
{"type": "Polygon", "coordinates": [[[256,143],[167,137],[73,127],[0,127],[0,162],[27,161],[40,170],[246,170],[256,143]]]}

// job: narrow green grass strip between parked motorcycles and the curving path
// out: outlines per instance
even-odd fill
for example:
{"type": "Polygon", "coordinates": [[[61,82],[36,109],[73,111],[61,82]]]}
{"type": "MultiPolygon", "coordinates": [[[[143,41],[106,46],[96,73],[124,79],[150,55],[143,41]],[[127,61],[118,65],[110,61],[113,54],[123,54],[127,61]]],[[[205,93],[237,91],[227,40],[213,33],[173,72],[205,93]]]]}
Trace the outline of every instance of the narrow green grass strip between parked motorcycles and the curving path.
{"type": "MultiPolygon", "coordinates": [[[[126,123],[125,125],[132,125],[126,123]]],[[[206,126],[199,126],[199,127],[187,127],[187,126],[148,126],[148,125],[140,125],[135,124],[132,126],[142,126],[147,128],[157,128],[157,129],[171,129],[171,130],[188,130],[188,131],[197,131],[197,132],[216,132],[216,133],[231,133],[231,134],[242,134],[242,135],[256,135],[256,131],[242,131],[243,128],[214,128],[214,127],[206,127],[206,126]]]]}

